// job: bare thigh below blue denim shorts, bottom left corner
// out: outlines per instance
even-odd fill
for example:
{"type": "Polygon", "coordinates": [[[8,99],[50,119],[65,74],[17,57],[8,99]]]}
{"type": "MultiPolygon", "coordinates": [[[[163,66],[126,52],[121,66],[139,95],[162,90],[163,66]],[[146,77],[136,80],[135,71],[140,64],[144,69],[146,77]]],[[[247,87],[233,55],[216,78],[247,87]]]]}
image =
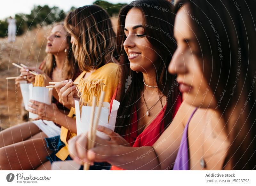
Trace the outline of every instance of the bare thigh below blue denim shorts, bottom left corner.
{"type": "Polygon", "coordinates": [[[34,170],[51,153],[43,138],[11,144],[0,148],[0,170],[34,170]]]}

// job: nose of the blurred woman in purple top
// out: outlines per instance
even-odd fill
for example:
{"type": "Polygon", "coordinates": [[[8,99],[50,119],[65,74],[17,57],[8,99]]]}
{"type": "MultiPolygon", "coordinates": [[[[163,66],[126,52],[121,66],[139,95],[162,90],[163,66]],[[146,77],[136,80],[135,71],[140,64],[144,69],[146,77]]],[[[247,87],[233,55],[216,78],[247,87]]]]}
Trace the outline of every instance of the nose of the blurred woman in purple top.
{"type": "Polygon", "coordinates": [[[178,49],[172,56],[168,71],[170,74],[174,75],[185,74],[185,61],[183,60],[182,52],[178,49]]]}

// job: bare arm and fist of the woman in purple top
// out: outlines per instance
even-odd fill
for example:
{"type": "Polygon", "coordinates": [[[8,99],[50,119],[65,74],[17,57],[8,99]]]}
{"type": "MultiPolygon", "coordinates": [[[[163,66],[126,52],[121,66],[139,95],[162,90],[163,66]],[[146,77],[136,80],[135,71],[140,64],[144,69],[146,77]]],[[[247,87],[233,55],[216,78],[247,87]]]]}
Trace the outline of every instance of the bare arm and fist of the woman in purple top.
{"type": "Polygon", "coordinates": [[[194,108],[181,104],[170,126],[156,143],[144,147],[116,146],[111,141],[96,137],[95,147],[86,150],[87,136],[76,136],[68,141],[71,157],[76,162],[108,161],[126,170],[164,170],[175,161],[182,134],[184,121],[194,108]],[[146,163],[145,163],[146,162],[146,163]]]}

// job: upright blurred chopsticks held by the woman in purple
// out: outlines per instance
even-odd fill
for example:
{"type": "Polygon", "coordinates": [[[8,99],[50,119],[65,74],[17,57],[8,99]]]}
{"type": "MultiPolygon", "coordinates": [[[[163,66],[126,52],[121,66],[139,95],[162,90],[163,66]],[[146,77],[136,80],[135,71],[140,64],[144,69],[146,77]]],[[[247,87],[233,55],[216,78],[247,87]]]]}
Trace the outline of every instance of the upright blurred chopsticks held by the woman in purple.
{"type": "MultiPolygon", "coordinates": [[[[94,113],[95,113],[95,107],[96,107],[96,97],[93,96],[92,98],[92,112],[91,112],[91,119],[90,119],[90,128],[88,132],[88,143],[87,143],[87,150],[90,150],[91,148],[94,147],[95,140],[96,140],[96,131],[97,131],[97,126],[99,123],[99,118],[100,118],[100,112],[101,112],[101,105],[103,103],[103,99],[105,97],[105,92],[101,92],[100,94],[100,104],[99,104],[99,109],[96,115],[96,120],[94,121],[94,113]]],[[[84,170],[89,170],[90,164],[89,163],[84,163],[84,170]]]]}

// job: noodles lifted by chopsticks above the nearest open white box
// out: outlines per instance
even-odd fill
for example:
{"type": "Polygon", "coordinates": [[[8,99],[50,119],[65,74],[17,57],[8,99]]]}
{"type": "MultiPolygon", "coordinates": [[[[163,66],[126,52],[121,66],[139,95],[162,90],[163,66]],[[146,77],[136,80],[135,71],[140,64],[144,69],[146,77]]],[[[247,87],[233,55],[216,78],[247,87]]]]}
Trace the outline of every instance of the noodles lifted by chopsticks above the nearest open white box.
{"type": "Polygon", "coordinates": [[[80,97],[81,105],[92,105],[92,97],[97,97],[97,102],[100,99],[101,91],[103,91],[103,80],[100,79],[84,79],[79,80],[79,84],[76,87],[78,91],[77,96],[80,97]]]}

